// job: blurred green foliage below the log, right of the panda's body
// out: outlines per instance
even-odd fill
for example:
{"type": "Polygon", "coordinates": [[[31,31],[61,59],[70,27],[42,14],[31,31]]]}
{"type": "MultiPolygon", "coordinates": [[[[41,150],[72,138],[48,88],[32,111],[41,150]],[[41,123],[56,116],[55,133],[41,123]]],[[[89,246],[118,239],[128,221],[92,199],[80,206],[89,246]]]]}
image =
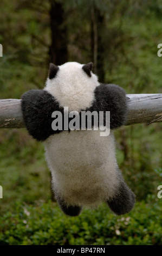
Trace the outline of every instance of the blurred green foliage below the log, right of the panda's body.
{"type": "Polygon", "coordinates": [[[155,194],[161,182],[159,126],[138,124],[122,127],[115,132],[119,166],[138,200],[146,199],[148,194],[155,194]]]}

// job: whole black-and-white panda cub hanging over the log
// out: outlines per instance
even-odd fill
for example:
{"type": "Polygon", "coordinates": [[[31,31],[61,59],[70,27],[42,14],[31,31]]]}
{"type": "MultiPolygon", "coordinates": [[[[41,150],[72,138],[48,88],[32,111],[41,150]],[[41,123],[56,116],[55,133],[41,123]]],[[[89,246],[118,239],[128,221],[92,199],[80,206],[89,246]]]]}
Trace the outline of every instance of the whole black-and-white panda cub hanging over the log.
{"type": "Polygon", "coordinates": [[[99,83],[92,69],[92,63],[50,64],[46,87],[22,95],[23,119],[30,135],[44,142],[53,191],[64,214],[77,216],[83,206],[105,202],[122,215],[135,202],[116,162],[113,135],[126,120],[126,94],[115,84],[99,83]],[[87,123],[85,130],[52,129],[52,113],[59,111],[63,117],[64,107],[79,113],[109,111],[109,135],[88,130],[87,123]]]}

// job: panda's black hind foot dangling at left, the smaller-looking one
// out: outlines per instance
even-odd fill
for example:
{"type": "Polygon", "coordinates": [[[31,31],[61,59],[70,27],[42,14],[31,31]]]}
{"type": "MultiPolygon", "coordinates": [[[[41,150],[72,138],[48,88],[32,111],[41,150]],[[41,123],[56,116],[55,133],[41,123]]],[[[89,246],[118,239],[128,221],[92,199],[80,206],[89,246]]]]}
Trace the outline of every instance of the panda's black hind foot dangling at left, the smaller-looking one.
{"type": "Polygon", "coordinates": [[[61,210],[64,212],[64,214],[68,216],[78,216],[80,215],[82,211],[82,206],[77,205],[67,205],[63,200],[57,197],[57,202],[61,208],[61,210]]]}

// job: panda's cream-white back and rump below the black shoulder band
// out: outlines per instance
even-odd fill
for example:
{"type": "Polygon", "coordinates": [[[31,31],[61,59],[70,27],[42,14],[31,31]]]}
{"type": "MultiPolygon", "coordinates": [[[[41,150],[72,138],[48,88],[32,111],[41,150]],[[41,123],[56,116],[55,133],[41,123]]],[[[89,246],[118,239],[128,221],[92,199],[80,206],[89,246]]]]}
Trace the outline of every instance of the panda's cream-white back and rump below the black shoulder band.
{"type": "Polygon", "coordinates": [[[45,144],[55,193],[67,203],[98,205],[111,196],[116,184],[114,136],[100,131],[63,131],[45,144]]]}

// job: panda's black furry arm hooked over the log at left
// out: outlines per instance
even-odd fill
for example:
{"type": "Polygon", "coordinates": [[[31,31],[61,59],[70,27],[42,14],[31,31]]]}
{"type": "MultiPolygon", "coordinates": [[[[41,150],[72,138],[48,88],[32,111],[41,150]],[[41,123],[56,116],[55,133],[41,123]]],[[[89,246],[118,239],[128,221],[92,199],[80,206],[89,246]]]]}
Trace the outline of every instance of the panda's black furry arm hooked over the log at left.
{"type": "Polygon", "coordinates": [[[25,126],[37,141],[45,141],[56,133],[51,128],[51,114],[59,111],[59,103],[45,90],[29,90],[22,95],[22,114],[25,126]]]}

